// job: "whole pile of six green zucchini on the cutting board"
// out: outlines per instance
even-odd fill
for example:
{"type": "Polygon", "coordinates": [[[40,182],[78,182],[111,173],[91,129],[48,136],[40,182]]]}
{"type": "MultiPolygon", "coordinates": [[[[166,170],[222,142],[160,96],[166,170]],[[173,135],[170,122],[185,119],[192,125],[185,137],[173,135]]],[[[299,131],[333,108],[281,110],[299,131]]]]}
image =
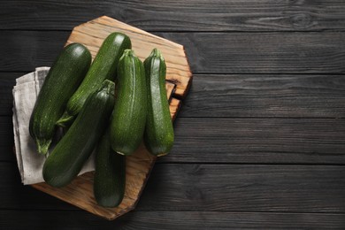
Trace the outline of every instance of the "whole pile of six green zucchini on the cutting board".
{"type": "Polygon", "coordinates": [[[131,48],[128,36],[112,33],[91,64],[84,45],[67,45],[44,80],[29,123],[38,153],[48,156],[42,175],[50,186],[68,185],[96,150],[94,195],[103,207],[121,203],[126,156],[142,141],[157,157],[173,147],[165,59],[154,49],[142,63],[131,48]],[[65,134],[52,149],[58,126],[65,134]]]}

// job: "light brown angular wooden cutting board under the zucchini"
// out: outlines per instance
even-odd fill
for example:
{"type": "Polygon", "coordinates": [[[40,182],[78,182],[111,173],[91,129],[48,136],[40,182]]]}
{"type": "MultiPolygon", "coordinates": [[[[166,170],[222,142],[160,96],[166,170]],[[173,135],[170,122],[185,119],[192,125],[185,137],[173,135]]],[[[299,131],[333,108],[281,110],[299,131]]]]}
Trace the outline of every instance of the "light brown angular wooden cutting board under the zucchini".
{"type": "MultiPolygon", "coordinates": [[[[167,68],[165,86],[170,101],[170,112],[172,118],[175,119],[181,100],[186,96],[192,81],[192,73],[183,46],[106,16],[74,27],[65,45],[80,42],[88,47],[92,57],[95,58],[103,40],[112,32],[128,35],[131,38],[134,53],[142,61],[149,56],[153,48],[162,52],[167,68]]],[[[80,175],[65,188],[53,188],[46,183],[32,186],[105,219],[116,219],[134,209],[149,179],[155,160],[156,157],[151,156],[143,145],[136,150],[134,155],[126,157],[126,192],[122,203],[117,208],[103,208],[96,204],[93,194],[93,172],[80,175]]]]}

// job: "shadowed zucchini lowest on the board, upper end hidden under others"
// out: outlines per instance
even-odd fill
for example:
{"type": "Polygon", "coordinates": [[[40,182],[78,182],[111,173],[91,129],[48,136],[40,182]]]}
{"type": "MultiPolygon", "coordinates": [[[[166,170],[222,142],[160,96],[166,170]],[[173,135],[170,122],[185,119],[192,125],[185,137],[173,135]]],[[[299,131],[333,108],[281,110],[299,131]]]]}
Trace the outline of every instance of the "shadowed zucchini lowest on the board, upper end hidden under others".
{"type": "Polygon", "coordinates": [[[119,206],[125,195],[126,157],[111,149],[109,132],[96,149],[94,195],[96,202],[107,208],[119,206]]]}

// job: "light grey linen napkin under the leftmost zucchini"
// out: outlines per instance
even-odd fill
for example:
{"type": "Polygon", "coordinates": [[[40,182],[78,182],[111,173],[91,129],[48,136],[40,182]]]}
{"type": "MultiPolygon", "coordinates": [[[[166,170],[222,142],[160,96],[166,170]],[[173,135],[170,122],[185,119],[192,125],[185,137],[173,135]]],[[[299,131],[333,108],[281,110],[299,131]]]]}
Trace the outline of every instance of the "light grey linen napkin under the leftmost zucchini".
{"type": "MultiPolygon", "coordinates": [[[[36,98],[49,70],[50,67],[36,68],[35,72],[19,77],[12,89],[14,144],[21,181],[25,185],[44,181],[42,167],[47,156],[42,156],[37,152],[28,126],[36,98]]],[[[50,151],[53,148],[54,145],[51,146],[50,151]]],[[[80,174],[95,170],[93,155],[82,167],[80,174]]]]}

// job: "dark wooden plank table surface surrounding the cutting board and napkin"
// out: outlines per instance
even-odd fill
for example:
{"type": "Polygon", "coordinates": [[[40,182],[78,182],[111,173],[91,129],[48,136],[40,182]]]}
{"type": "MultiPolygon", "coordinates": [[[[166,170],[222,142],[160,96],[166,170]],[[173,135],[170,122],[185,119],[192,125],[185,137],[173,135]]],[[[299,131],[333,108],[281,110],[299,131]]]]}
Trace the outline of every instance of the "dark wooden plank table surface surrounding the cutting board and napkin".
{"type": "Polygon", "coordinates": [[[345,229],[345,2],[0,3],[0,228],[345,229]],[[185,46],[193,86],[135,211],[98,218],[20,182],[12,87],[101,15],[185,46]]]}

